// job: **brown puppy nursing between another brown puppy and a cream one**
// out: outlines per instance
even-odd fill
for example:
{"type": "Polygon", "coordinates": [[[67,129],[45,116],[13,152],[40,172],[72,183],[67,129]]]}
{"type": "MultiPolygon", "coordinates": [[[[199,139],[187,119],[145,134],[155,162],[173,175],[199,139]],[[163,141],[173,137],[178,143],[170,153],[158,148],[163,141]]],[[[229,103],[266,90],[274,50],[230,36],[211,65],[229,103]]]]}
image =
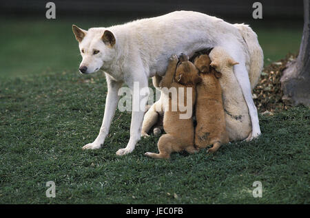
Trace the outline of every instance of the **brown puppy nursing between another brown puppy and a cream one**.
{"type": "Polygon", "coordinates": [[[229,142],[226,132],[225,112],[223,108],[222,89],[218,78],[222,76],[210,66],[207,54],[194,59],[194,65],[200,71],[202,82],[196,86],[196,121],[195,145],[203,149],[213,144],[209,153],[214,153],[220,144],[229,142]]]}

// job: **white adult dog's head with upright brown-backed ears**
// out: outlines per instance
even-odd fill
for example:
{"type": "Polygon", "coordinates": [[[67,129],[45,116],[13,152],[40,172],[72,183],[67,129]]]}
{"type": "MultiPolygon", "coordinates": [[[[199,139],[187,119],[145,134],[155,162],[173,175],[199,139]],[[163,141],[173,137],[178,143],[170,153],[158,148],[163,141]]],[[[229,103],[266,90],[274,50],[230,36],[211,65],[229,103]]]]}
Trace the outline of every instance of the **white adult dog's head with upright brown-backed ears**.
{"type": "Polygon", "coordinates": [[[107,67],[115,56],[116,39],[112,32],[101,28],[82,30],[72,25],[83,61],[79,66],[82,74],[92,74],[99,69],[107,67]]]}

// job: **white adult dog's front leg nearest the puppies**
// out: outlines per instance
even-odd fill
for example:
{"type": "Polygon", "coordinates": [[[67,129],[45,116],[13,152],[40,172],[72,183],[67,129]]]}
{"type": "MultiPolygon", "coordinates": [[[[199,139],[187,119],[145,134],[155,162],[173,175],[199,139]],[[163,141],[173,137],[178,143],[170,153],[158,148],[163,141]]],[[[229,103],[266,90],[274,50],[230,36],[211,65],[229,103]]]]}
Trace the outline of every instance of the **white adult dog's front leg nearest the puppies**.
{"type": "Polygon", "coordinates": [[[125,155],[134,151],[136,143],[141,138],[141,127],[145,113],[145,105],[149,97],[147,76],[143,72],[136,74],[135,78],[127,81],[128,87],[132,89],[132,122],[130,124],[130,140],[125,149],[119,149],[116,155],[125,155]]]}

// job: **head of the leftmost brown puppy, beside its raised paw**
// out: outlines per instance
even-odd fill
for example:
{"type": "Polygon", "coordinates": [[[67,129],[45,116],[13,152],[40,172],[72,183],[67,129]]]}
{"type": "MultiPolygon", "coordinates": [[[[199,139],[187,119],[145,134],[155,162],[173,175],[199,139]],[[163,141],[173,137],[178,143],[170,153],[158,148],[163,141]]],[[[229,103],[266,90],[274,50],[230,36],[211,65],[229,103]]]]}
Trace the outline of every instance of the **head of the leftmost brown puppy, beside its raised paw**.
{"type": "Polygon", "coordinates": [[[179,57],[174,79],[182,85],[195,85],[201,82],[198,69],[189,61],[189,57],[185,54],[181,54],[179,57]]]}

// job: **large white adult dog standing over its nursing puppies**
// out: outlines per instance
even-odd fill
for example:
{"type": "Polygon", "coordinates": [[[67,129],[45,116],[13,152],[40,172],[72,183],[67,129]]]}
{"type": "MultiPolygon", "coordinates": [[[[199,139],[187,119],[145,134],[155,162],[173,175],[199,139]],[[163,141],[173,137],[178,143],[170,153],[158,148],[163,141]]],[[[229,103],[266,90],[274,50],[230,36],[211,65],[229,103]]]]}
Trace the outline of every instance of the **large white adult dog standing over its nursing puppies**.
{"type": "MultiPolygon", "coordinates": [[[[76,25],[72,28],[83,57],[80,72],[91,74],[102,69],[107,79],[107,99],[99,135],[83,149],[99,149],[104,143],[118,104],[118,89],[123,83],[130,89],[133,89],[134,82],[138,82],[141,89],[148,87],[147,78],[156,74],[163,76],[172,54],[192,56],[198,50],[215,46],[224,47],[239,63],[234,66],[234,74],[249,109],[250,139],[260,135],[250,79],[261,72],[262,50],[256,34],[246,25],[232,25],[199,12],[179,11],[110,28],[90,28],[87,31],[76,25]]],[[[137,96],[141,105],[147,102],[146,96],[137,96]]],[[[116,155],[134,150],[141,138],[143,115],[144,111],[132,111],[130,141],[116,155]]]]}

